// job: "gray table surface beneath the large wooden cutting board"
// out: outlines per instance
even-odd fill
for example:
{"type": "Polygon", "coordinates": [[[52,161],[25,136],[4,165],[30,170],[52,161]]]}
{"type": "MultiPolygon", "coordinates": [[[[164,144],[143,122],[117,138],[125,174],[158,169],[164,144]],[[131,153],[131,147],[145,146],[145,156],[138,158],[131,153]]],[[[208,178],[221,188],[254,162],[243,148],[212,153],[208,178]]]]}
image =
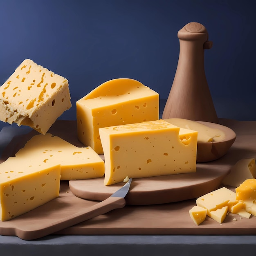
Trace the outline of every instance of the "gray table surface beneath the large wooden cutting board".
{"type": "MultiPolygon", "coordinates": [[[[163,109],[165,101],[160,101],[163,109]]],[[[217,106],[216,110],[221,106],[217,106]]],[[[61,119],[75,118],[75,104],[61,119]]],[[[160,117],[162,112],[160,112],[160,117]]],[[[227,116],[221,116],[229,118],[227,116]]],[[[250,115],[251,118],[252,115],[250,115]]],[[[231,118],[234,119],[234,116],[231,118]]],[[[237,118],[241,119],[240,117],[237,118]]],[[[256,120],[253,119],[253,120],[256,120]]],[[[0,152],[14,135],[29,132],[30,128],[0,123],[0,152]]],[[[0,254],[21,256],[70,255],[256,255],[256,236],[58,236],[22,240],[16,236],[0,236],[0,254]]]]}

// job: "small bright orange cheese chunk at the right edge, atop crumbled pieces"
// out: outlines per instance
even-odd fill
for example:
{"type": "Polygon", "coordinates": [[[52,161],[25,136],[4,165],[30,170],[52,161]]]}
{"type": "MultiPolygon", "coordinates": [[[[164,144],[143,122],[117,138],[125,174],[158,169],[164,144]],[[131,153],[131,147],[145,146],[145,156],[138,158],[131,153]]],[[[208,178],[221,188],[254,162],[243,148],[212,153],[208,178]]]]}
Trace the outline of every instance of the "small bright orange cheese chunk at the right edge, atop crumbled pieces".
{"type": "Polygon", "coordinates": [[[256,200],[256,179],[247,179],[236,188],[236,200],[256,200]]]}

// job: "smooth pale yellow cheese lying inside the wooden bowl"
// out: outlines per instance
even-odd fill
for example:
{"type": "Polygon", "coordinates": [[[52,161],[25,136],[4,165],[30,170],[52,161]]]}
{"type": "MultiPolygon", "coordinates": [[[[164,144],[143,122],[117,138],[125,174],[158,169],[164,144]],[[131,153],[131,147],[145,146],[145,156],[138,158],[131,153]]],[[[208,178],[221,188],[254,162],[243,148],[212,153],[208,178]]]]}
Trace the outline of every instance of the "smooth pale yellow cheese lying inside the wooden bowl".
{"type": "Polygon", "coordinates": [[[198,131],[198,142],[215,142],[225,139],[225,133],[222,130],[211,128],[196,121],[183,118],[168,118],[164,120],[175,126],[198,131]]]}

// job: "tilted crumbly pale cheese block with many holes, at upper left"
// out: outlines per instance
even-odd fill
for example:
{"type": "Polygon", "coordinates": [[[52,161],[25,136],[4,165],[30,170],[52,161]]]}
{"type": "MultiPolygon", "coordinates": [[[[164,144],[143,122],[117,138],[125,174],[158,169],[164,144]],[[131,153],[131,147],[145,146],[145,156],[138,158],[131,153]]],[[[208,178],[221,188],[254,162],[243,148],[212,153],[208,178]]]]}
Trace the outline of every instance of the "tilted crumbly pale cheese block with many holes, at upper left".
{"type": "Polygon", "coordinates": [[[0,120],[42,134],[70,107],[67,79],[29,59],[0,87],[0,120]]]}

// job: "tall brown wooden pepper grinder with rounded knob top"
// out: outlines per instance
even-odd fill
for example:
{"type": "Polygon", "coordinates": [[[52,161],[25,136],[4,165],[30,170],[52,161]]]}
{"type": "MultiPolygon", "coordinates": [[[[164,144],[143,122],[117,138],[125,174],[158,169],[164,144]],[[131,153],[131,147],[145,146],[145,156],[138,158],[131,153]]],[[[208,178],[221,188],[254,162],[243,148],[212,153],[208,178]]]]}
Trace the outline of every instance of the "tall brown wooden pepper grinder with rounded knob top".
{"type": "Polygon", "coordinates": [[[204,72],[204,49],[211,49],[206,28],[190,22],[177,34],[180,56],[163,119],[184,118],[219,124],[204,72]]]}

